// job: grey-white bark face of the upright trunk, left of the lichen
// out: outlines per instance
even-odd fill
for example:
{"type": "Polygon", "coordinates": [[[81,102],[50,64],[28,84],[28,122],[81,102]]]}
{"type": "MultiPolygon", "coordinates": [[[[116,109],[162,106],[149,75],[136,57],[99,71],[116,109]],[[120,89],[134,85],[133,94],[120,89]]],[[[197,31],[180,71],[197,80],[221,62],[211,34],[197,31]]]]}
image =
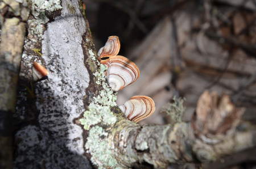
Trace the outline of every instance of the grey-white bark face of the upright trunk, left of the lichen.
{"type": "Polygon", "coordinates": [[[31,1],[14,115],[14,168],[90,168],[83,130],[75,124],[89,83],[81,45],[87,27],[78,1],[61,6],[31,1]],[[31,82],[33,61],[46,67],[48,79],[31,82]]]}

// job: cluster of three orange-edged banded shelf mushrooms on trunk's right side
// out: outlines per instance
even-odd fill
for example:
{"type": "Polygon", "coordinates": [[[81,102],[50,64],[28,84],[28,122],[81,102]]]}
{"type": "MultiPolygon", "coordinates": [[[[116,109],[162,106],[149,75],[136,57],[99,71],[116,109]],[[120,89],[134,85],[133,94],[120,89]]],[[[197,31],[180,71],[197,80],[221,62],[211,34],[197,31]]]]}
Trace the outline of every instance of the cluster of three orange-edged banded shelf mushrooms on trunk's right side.
{"type": "MultiPolygon", "coordinates": [[[[114,91],[121,90],[139,77],[139,69],[134,62],[117,55],[119,49],[118,37],[110,36],[105,46],[98,51],[98,60],[107,67],[106,77],[114,91]]],[[[129,120],[138,122],[154,113],[155,103],[147,96],[133,96],[119,108],[129,120]]]]}

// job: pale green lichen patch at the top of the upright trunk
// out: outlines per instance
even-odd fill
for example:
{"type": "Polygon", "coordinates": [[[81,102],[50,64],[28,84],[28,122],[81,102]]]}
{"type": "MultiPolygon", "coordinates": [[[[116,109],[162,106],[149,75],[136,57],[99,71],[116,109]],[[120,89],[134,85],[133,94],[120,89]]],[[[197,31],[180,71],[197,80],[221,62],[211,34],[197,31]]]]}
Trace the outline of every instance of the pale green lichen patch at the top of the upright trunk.
{"type": "Polygon", "coordinates": [[[52,12],[62,9],[60,3],[60,0],[30,0],[31,13],[34,16],[34,19],[28,20],[28,25],[30,26],[29,33],[31,35],[37,35],[38,37],[43,36],[43,24],[49,22],[45,11],[52,12]]]}

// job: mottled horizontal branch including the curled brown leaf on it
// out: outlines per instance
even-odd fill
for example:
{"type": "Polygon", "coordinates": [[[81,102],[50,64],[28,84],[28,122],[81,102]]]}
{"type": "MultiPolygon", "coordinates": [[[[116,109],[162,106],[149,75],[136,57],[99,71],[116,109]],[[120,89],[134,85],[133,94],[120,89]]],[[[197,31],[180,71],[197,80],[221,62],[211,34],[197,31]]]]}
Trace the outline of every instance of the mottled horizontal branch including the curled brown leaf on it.
{"type": "Polygon", "coordinates": [[[205,91],[192,122],[162,126],[120,122],[123,128],[113,132],[115,157],[125,167],[138,167],[138,162],[154,168],[214,162],[255,146],[255,125],[240,123],[244,111],[228,95],[219,98],[216,92],[205,91]]]}

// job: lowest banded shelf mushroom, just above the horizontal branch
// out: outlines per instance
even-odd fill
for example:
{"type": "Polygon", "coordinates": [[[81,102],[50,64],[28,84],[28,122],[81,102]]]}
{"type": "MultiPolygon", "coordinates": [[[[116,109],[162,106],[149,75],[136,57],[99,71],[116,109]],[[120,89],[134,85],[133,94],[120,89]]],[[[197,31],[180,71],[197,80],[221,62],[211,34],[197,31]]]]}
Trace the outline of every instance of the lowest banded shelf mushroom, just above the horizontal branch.
{"type": "Polygon", "coordinates": [[[119,108],[129,120],[141,121],[151,116],[155,111],[154,101],[147,96],[133,96],[119,108]]]}

